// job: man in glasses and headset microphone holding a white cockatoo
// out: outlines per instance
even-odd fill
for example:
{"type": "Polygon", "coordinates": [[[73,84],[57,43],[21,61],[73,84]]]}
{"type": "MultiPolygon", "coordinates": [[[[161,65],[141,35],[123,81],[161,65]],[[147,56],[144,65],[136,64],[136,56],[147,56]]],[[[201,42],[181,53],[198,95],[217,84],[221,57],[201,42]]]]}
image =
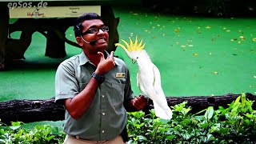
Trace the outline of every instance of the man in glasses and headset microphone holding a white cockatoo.
{"type": "Polygon", "coordinates": [[[126,111],[147,104],[143,96],[134,98],[125,62],[106,52],[108,30],[98,14],[80,16],[74,34],[82,53],[58,66],[55,102],[66,108],[66,144],[125,143],[126,111]]]}

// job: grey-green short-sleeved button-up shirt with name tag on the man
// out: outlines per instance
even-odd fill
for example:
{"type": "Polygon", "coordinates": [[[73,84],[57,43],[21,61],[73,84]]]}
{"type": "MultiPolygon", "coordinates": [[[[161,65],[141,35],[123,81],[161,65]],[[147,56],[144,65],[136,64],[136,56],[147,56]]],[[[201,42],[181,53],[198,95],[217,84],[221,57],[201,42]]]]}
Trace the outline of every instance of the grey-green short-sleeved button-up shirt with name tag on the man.
{"type": "MultiPolygon", "coordinates": [[[[82,118],[75,120],[66,110],[66,134],[91,141],[110,140],[121,134],[127,121],[124,103],[134,98],[134,94],[125,62],[119,58],[114,58],[114,62],[114,69],[105,74],[105,81],[98,87],[93,102],[82,118]]],[[[62,62],[55,76],[55,102],[74,98],[86,87],[95,70],[96,66],[83,51],[62,62]]]]}

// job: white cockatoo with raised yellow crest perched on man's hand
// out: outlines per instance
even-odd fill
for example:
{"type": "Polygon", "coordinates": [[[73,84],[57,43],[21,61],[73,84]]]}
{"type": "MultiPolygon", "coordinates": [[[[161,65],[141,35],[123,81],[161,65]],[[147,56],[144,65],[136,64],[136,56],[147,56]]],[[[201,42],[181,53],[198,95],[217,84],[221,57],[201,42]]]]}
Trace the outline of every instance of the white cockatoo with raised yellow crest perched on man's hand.
{"type": "Polygon", "coordinates": [[[133,63],[138,63],[137,86],[143,95],[153,101],[155,115],[170,120],[173,113],[162,90],[158,67],[151,62],[149,55],[144,50],[145,43],[142,45],[142,40],[138,43],[137,37],[135,42],[131,38],[129,39],[130,44],[122,39],[126,46],[120,43],[115,43],[115,46],[121,46],[133,63]]]}

